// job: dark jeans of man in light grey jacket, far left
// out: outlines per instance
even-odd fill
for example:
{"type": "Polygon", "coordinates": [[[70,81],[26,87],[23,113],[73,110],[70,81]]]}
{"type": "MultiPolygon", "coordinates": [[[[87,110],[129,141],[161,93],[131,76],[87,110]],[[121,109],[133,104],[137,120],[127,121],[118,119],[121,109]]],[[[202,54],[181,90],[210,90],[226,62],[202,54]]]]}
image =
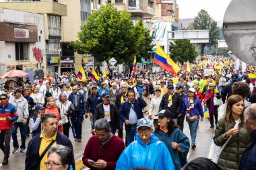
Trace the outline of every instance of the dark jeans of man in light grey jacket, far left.
{"type": "Polygon", "coordinates": [[[20,128],[20,136],[22,138],[22,145],[20,148],[26,148],[26,124],[23,122],[14,122],[13,128],[11,132],[11,137],[13,139],[13,148],[19,148],[18,138],[17,138],[17,130],[20,128]]]}

